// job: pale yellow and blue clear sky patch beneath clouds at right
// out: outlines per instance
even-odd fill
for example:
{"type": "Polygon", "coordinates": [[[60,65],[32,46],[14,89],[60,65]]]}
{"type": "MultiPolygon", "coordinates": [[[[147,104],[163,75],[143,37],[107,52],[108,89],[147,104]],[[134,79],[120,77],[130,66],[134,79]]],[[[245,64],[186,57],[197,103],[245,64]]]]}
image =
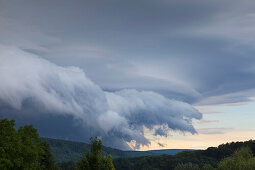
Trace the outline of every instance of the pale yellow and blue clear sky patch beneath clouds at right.
{"type": "MultiPolygon", "coordinates": [[[[255,102],[234,105],[197,106],[203,119],[194,122],[198,134],[171,132],[168,137],[151,137],[151,145],[139,150],[152,149],[206,149],[227,142],[255,139],[255,102]],[[159,144],[164,145],[160,147],[159,144]]],[[[148,131],[150,134],[150,131],[148,131]]],[[[132,146],[132,145],[131,145],[132,146]]]]}

